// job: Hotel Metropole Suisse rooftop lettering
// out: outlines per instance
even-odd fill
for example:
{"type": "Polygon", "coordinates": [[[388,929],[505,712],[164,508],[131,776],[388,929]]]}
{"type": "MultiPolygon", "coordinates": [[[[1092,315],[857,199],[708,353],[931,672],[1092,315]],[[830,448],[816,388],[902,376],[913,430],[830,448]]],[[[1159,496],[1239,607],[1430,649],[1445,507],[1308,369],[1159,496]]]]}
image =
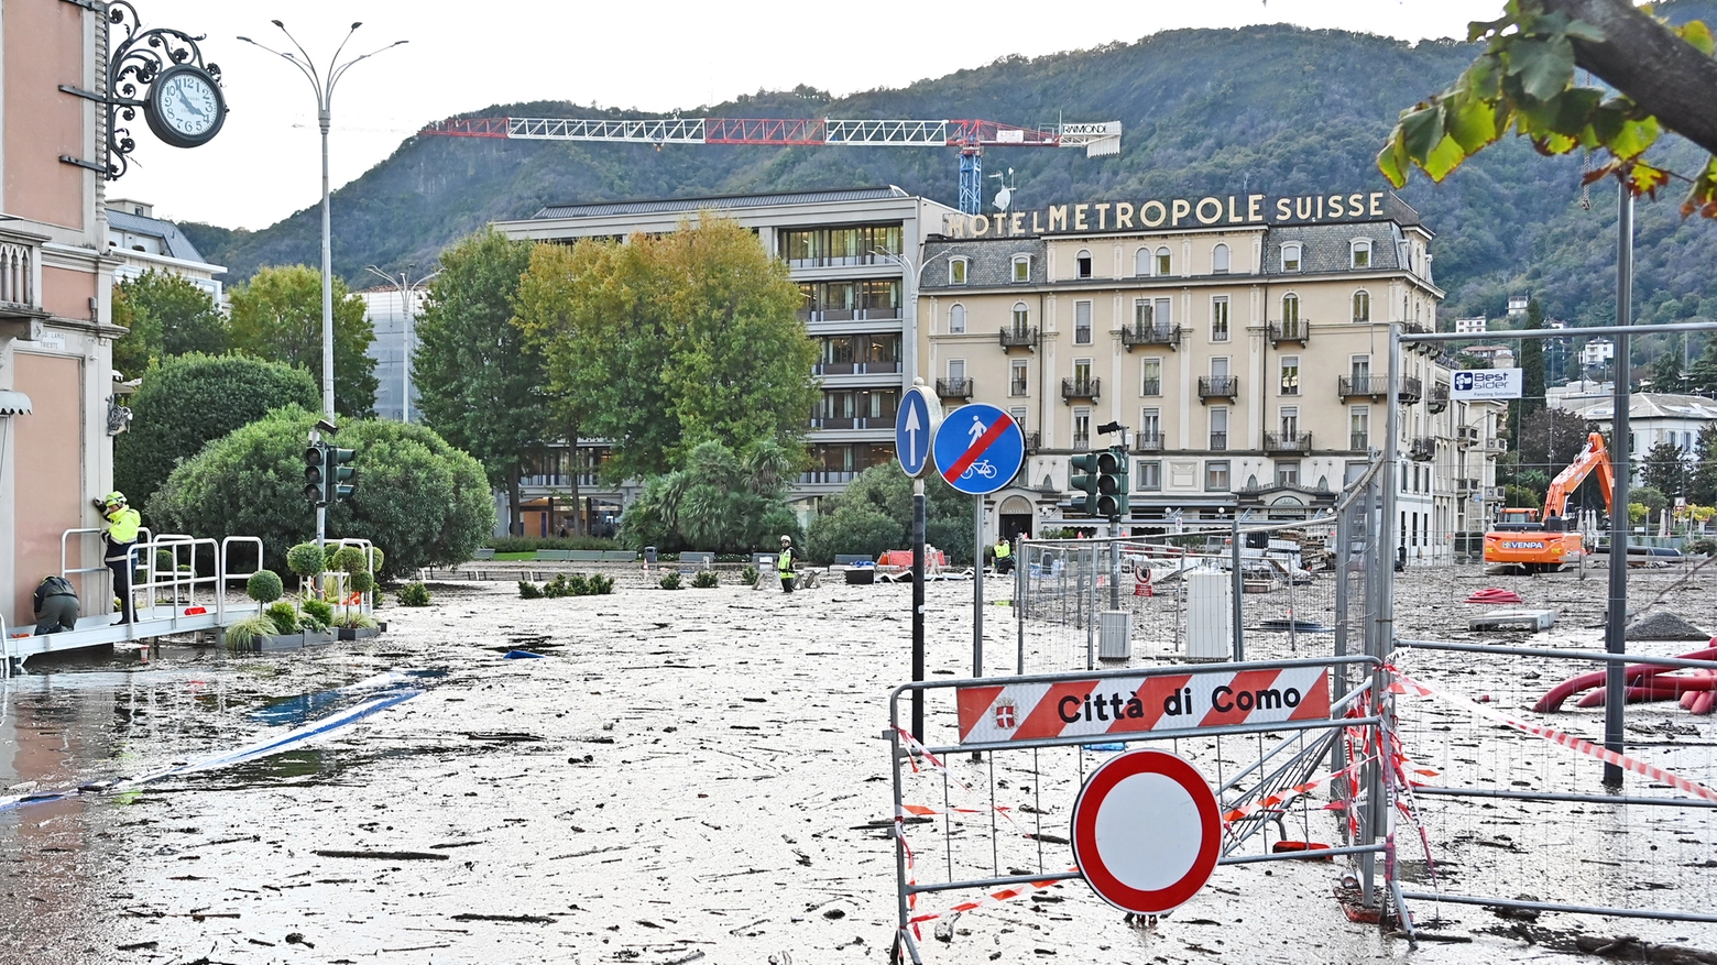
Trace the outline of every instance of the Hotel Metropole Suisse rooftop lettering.
{"type": "Polygon", "coordinates": [[[996,239],[1028,235],[1080,235],[1140,228],[1198,228],[1362,222],[1384,216],[1392,199],[1386,191],[1346,194],[1224,194],[1169,197],[1164,201],[1087,201],[1051,204],[1032,211],[996,215],[943,215],[943,234],[951,239],[996,239]]]}

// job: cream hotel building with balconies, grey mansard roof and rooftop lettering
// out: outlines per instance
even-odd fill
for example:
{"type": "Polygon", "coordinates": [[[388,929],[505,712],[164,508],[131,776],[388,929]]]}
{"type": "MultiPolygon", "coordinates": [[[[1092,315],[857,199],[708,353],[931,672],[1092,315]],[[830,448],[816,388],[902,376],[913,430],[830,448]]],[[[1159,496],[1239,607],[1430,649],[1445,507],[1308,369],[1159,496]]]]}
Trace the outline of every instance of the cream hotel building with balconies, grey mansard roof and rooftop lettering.
{"type": "Polygon", "coordinates": [[[1389,323],[1437,326],[1432,232],[1392,194],[1317,203],[948,216],[924,247],[919,357],[944,409],[987,402],[1025,429],[1027,467],[991,522],[1090,525],[1065,510],[1068,458],[1123,443],[1099,433],[1111,422],[1128,429],[1123,529],[1173,532],[1236,508],[1301,519],[1379,458],[1398,405],[1408,558],[1446,560],[1456,534],[1482,531],[1502,407],[1451,400],[1434,347],[1403,352],[1387,398],[1389,323]]]}

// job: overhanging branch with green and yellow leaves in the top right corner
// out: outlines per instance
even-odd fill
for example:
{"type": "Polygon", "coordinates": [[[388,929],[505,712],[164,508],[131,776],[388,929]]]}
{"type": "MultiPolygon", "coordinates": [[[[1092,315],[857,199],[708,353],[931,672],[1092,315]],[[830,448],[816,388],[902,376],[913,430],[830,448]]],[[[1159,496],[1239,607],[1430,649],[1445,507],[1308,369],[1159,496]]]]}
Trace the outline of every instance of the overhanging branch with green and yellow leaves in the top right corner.
{"type": "MultiPolygon", "coordinates": [[[[1545,155],[1602,148],[1611,160],[1588,184],[1612,173],[1653,197],[1671,172],[1645,151],[1665,127],[1717,155],[1717,39],[1700,21],[1669,27],[1629,0],[1508,0],[1468,39],[1483,39],[1485,52],[1454,86],[1401,112],[1377,155],[1396,187],[1411,167],[1442,180],[1509,129],[1545,155]],[[1574,67],[1617,93],[1576,86],[1574,67]]],[[[1717,218],[1717,156],[1690,180],[1683,216],[1717,218]]]]}

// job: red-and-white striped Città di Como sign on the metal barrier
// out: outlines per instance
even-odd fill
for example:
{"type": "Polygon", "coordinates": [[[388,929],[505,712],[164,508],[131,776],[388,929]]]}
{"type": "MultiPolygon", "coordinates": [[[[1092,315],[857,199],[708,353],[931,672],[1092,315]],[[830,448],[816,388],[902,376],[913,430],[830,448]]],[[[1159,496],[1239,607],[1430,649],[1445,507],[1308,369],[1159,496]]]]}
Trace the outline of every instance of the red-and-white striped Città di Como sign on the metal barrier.
{"type": "Polygon", "coordinates": [[[1071,678],[960,687],[960,743],[1320,719],[1329,668],[1071,678]]]}

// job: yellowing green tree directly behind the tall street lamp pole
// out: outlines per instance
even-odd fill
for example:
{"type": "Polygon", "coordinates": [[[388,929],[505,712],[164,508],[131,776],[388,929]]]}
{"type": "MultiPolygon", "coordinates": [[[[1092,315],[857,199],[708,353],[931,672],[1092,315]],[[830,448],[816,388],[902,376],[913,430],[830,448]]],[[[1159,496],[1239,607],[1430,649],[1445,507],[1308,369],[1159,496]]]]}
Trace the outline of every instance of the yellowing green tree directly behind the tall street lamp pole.
{"type": "MultiPolygon", "coordinates": [[[[228,338],[234,352],[288,362],[311,373],[321,385],[321,273],[307,264],[263,268],[251,282],[228,288],[232,319],[228,338]]],[[[333,280],[333,407],[335,412],[366,419],[376,410],[376,361],[369,345],[374,326],[364,299],[345,282],[333,280]]]]}

